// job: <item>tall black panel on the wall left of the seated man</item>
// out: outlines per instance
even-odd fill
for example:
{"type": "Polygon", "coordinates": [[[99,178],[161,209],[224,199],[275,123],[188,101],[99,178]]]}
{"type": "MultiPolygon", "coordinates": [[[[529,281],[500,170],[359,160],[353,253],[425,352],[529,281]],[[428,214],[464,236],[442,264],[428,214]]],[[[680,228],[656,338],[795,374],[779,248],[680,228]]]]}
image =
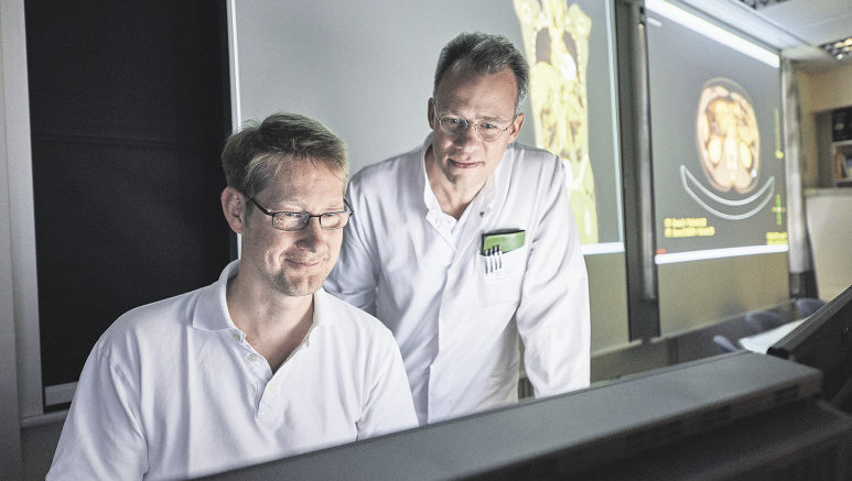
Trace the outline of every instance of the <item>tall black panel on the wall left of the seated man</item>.
{"type": "Polygon", "coordinates": [[[214,282],[234,256],[218,201],[226,10],[24,6],[46,387],[75,382],[122,313],[214,282]]]}

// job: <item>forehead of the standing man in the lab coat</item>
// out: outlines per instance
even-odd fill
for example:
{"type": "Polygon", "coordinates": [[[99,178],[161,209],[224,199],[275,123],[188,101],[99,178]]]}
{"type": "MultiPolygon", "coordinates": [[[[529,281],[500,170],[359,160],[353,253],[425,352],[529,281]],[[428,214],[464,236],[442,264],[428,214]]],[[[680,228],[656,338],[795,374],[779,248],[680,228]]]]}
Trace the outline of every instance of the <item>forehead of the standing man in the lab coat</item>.
{"type": "Polygon", "coordinates": [[[472,109],[482,114],[511,117],[517,98],[515,74],[510,68],[477,74],[467,61],[460,61],[444,73],[435,96],[441,110],[472,109]]]}

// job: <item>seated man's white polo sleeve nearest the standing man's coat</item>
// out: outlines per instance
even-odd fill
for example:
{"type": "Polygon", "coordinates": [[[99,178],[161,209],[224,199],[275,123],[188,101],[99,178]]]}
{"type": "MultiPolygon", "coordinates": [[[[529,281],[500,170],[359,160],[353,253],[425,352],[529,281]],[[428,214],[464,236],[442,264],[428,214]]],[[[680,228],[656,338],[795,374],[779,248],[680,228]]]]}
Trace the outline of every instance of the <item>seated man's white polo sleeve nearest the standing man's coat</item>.
{"type": "Polygon", "coordinates": [[[402,356],[390,331],[380,334],[376,339],[381,347],[374,350],[369,368],[373,381],[357,422],[358,439],[418,426],[402,356]]]}

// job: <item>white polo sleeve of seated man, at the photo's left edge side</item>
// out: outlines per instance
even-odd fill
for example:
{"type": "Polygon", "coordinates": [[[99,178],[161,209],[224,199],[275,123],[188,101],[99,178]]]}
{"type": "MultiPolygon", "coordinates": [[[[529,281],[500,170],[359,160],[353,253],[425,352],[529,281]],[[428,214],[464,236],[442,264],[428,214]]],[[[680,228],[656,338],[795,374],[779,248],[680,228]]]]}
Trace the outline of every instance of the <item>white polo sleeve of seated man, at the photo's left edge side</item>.
{"type": "Polygon", "coordinates": [[[83,368],[46,479],[142,479],[148,445],[138,398],[99,341],[83,368]]]}

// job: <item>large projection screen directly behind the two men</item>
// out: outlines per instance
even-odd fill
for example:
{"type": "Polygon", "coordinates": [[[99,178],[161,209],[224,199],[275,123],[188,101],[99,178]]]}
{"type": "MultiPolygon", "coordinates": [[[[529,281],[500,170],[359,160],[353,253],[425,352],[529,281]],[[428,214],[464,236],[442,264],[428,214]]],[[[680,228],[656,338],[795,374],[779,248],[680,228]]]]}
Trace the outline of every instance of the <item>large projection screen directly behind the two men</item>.
{"type": "Polygon", "coordinates": [[[530,65],[518,141],[565,163],[583,253],[624,251],[612,2],[228,3],[234,124],[312,117],[346,141],[353,174],[423,142],[446,42],[505,35],[530,65]]]}

